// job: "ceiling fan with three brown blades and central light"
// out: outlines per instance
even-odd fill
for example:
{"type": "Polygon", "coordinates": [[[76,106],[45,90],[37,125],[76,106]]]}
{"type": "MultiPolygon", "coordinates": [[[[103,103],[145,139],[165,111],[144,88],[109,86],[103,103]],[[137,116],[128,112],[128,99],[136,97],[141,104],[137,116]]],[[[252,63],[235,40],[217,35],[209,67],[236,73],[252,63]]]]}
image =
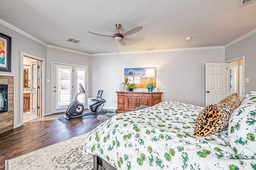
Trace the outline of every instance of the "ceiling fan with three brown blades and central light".
{"type": "Polygon", "coordinates": [[[119,29],[121,28],[121,26],[122,26],[121,24],[116,24],[117,32],[116,32],[116,34],[113,34],[113,35],[97,34],[97,33],[90,32],[90,31],[88,31],[88,33],[94,34],[96,36],[113,37],[115,40],[118,40],[118,42],[120,43],[121,46],[126,46],[126,44],[124,43],[124,41],[122,39],[126,36],[130,36],[132,34],[139,32],[143,28],[142,26],[138,26],[138,27],[133,28],[132,30],[129,30],[128,32],[120,34],[119,29]]]}

